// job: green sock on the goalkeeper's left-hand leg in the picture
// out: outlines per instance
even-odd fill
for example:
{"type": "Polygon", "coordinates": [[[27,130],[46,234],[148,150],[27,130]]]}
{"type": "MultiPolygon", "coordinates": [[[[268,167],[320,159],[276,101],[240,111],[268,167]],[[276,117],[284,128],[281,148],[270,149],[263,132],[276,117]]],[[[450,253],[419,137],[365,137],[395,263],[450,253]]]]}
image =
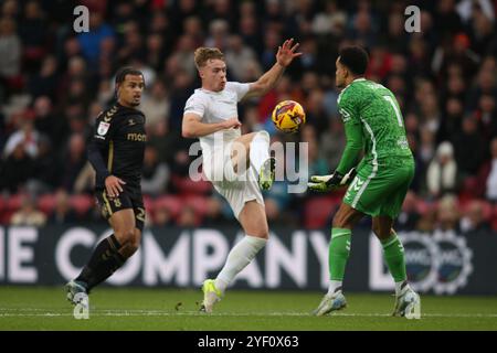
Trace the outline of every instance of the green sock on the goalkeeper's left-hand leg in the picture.
{"type": "Polygon", "coordinates": [[[352,231],[346,228],[331,228],[329,243],[329,275],[331,280],[343,280],[345,268],[350,253],[350,237],[352,231]]]}

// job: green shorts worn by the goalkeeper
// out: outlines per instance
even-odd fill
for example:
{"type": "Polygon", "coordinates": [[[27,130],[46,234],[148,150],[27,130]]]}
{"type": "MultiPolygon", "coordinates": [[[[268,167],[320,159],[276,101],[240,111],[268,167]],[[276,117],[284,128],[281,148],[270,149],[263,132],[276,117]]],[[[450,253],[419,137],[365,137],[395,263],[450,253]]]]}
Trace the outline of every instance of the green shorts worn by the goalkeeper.
{"type": "Polygon", "coordinates": [[[370,216],[396,218],[414,178],[414,161],[409,158],[361,164],[343,203],[370,216]]]}

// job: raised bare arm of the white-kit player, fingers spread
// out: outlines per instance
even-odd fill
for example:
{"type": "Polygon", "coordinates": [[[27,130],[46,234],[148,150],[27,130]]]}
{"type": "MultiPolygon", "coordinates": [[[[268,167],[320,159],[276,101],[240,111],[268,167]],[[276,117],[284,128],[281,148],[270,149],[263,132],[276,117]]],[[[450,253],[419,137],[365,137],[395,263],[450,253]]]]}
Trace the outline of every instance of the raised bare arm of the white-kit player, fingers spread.
{"type": "Polygon", "coordinates": [[[285,43],[278,47],[278,52],[276,53],[276,63],[256,82],[251,84],[244,98],[263,96],[276,85],[279,77],[282,77],[285,72],[285,68],[295,57],[302,55],[302,53],[295,52],[299,43],[296,43],[295,45],[293,45],[293,43],[294,39],[286,40],[285,43]]]}

